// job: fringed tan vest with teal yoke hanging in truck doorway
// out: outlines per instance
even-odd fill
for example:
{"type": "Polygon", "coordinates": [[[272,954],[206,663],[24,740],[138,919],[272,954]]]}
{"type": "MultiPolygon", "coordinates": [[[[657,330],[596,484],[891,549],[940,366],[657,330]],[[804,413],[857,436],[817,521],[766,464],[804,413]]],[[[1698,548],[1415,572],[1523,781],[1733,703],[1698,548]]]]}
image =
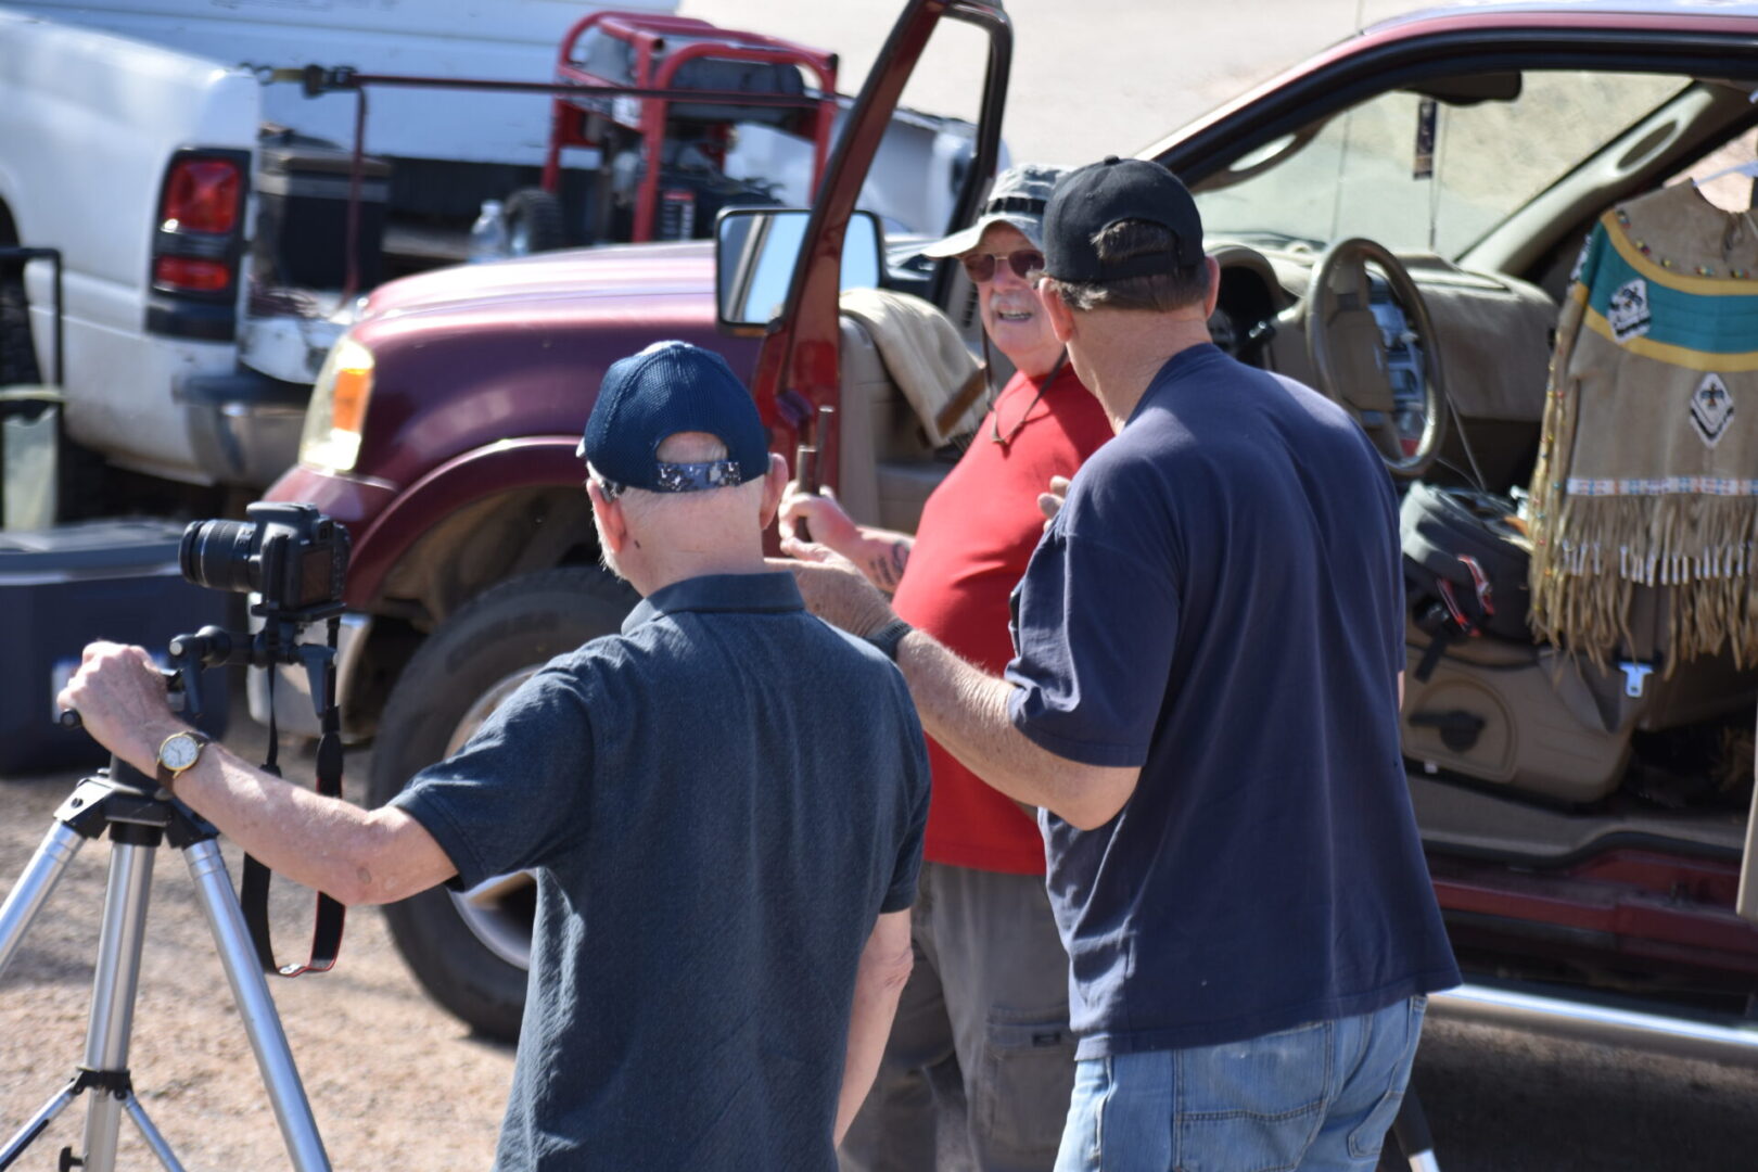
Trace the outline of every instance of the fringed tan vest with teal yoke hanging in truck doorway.
{"type": "Polygon", "coordinates": [[[1758,225],[1691,183],[1600,218],[1558,322],[1531,624],[1605,662],[1660,590],[1667,669],[1758,659],[1758,225]]]}

